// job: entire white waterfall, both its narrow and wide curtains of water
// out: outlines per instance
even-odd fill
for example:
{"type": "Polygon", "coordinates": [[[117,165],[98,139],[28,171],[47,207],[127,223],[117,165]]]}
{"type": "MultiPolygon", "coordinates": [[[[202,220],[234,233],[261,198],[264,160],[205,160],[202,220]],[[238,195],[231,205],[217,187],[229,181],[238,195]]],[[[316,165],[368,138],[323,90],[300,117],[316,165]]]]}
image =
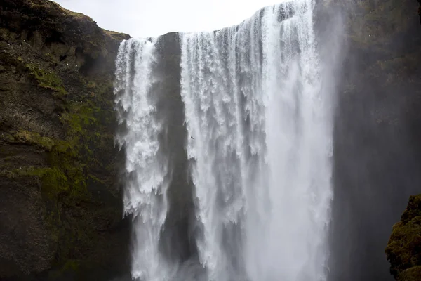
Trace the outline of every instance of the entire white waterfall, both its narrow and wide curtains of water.
{"type": "MultiPolygon", "coordinates": [[[[296,0],[238,26],[180,34],[203,280],[326,280],[332,98],[322,88],[313,11],[314,1],[296,0]]],[[[159,249],[171,167],[159,143],[155,46],[123,41],[116,60],[124,207],[135,217],[132,276],[141,281],[173,280],[179,266],[159,249]]]]}

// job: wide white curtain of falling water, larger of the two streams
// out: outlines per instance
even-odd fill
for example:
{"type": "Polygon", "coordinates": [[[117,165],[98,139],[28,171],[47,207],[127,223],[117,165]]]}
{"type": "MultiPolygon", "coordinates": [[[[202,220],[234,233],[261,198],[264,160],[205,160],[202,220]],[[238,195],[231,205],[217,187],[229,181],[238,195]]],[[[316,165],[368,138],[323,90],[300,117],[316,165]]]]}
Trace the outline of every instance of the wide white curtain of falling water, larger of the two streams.
{"type": "Polygon", "coordinates": [[[199,259],[208,280],[326,280],[331,96],[313,0],[181,34],[199,259]]]}

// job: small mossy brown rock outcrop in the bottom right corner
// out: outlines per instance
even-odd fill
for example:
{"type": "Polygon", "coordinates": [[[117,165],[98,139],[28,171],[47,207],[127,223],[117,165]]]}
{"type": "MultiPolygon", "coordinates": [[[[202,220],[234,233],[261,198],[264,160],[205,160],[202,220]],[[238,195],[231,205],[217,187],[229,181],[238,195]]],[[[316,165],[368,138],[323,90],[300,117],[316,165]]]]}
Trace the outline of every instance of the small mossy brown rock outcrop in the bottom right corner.
{"type": "Polygon", "coordinates": [[[386,248],[390,273],[398,281],[421,280],[421,195],[411,196],[386,248]]]}

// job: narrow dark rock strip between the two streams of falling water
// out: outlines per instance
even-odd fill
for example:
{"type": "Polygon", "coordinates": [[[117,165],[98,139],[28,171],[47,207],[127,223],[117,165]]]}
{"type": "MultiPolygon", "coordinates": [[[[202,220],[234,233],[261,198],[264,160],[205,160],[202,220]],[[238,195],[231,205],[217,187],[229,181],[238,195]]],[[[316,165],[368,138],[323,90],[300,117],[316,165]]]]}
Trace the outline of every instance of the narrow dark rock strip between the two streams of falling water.
{"type": "Polygon", "coordinates": [[[178,32],[171,32],[159,37],[159,73],[161,98],[159,112],[167,129],[161,139],[162,147],[168,155],[171,171],[171,183],[168,187],[169,211],[161,236],[162,250],[173,262],[182,263],[196,254],[196,245],[190,240],[194,228],[194,192],[189,181],[187,162],[187,128],[185,126],[185,108],[180,95],[180,60],[181,48],[178,32]]]}

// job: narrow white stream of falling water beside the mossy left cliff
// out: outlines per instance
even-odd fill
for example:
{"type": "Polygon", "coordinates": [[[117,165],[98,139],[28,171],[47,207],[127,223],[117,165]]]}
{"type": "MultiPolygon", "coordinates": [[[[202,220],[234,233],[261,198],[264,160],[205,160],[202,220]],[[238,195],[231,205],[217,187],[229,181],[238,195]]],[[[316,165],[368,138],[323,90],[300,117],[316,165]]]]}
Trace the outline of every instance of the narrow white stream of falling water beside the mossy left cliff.
{"type": "Polygon", "coordinates": [[[168,160],[160,149],[163,125],[156,110],[154,40],[123,41],[116,58],[114,85],[121,132],[116,138],[126,150],[125,214],[133,214],[132,276],[147,281],[168,279],[159,251],[167,214],[168,160]]]}

